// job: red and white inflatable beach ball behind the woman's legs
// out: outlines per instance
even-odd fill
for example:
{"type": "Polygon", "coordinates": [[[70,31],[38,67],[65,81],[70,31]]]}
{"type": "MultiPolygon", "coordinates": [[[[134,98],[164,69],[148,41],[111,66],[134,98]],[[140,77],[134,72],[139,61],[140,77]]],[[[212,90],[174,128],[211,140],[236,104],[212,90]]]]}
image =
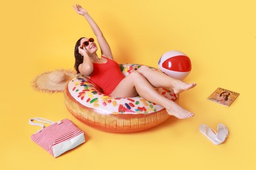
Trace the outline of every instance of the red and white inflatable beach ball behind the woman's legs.
{"type": "Polygon", "coordinates": [[[191,71],[191,62],[183,52],[171,50],[161,56],[158,69],[173,78],[183,80],[191,71]]]}

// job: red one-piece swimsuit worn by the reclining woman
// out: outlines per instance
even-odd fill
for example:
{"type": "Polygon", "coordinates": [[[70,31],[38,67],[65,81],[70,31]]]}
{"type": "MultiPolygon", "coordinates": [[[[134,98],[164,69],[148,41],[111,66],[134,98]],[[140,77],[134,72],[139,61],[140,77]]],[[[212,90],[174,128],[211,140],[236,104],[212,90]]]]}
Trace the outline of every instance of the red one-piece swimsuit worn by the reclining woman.
{"type": "Polygon", "coordinates": [[[90,79],[95,82],[104,94],[109,95],[125,76],[121,73],[116,61],[109,58],[106,59],[106,63],[93,63],[93,72],[90,79]]]}

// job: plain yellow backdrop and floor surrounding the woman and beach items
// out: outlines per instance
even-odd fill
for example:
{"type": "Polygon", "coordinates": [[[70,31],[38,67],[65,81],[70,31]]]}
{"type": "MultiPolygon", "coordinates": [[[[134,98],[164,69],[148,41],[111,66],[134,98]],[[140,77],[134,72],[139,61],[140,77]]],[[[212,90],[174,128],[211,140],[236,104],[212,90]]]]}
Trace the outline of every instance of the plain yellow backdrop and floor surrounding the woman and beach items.
{"type": "Polygon", "coordinates": [[[4,1],[1,3],[0,169],[256,169],[255,1],[96,0],[4,1]],[[119,63],[157,67],[161,54],[180,50],[192,61],[180,105],[196,114],[170,118],[139,133],[98,131],[64,105],[62,93],[35,92],[35,76],[73,69],[74,44],[94,37],[80,3],[102,29],[119,63]],[[217,89],[240,93],[230,107],[207,97],[217,89]],[[29,118],[69,118],[87,142],[53,158],[33,143],[29,118]],[[230,135],[215,146],[199,127],[225,124],[230,135]]]}

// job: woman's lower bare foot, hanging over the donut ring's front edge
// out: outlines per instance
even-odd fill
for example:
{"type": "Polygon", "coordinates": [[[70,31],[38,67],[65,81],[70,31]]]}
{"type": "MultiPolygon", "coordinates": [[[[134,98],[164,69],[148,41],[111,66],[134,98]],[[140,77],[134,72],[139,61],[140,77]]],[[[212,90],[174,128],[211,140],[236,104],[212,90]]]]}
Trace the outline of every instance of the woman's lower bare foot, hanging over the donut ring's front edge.
{"type": "Polygon", "coordinates": [[[191,118],[194,116],[194,113],[188,112],[188,110],[183,109],[176,103],[172,105],[171,109],[167,110],[167,112],[169,115],[175,116],[179,119],[191,118]]]}

